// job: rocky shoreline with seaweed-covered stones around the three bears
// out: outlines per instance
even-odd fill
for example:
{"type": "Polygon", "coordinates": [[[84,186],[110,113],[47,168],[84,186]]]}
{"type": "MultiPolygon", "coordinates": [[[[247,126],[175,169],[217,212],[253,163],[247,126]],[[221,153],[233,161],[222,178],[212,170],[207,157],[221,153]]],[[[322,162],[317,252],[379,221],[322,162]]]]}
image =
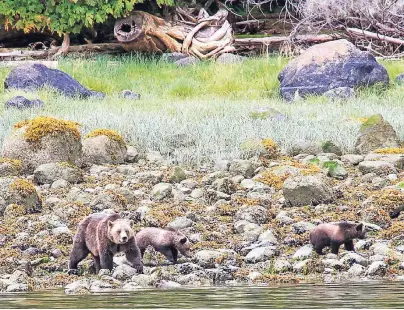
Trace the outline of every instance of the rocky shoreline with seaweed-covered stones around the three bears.
{"type": "Polygon", "coordinates": [[[16,124],[0,159],[0,291],[404,280],[404,149],[375,115],[356,150],[297,141],[282,154],[264,139],[243,159],[186,168],[110,130],[81,137],[74,122],[48,117],[16,124]],[[147,251],[144,274],[118,255],[99,275],[89,257],[68,275],[77,224],[95,212],[118,212],[135,231],[179,229],[193,255],[171,265],[147,251]],[[363,222],[367,239],[318,256],[309,231],[341,220],[363,222]]]}

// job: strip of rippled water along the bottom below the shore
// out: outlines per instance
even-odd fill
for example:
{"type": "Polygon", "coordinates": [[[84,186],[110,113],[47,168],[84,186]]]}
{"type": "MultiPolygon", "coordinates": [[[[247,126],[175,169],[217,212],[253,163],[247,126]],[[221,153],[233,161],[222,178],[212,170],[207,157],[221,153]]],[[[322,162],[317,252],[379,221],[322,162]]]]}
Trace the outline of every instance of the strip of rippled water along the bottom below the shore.
{"type": "Polygon", "coordinates": [[[363,282],[267,287],[142,289],[92,295],[63,290],[0,294],[4,308],[403,308],[404,284],[363,282]]]}

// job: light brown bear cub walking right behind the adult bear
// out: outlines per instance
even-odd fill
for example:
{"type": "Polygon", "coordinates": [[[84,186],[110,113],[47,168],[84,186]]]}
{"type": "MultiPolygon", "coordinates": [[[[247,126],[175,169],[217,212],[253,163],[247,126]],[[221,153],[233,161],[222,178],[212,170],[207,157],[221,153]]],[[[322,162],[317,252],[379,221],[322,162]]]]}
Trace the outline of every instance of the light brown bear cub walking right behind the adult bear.
{"type": "Polygon", "coordinates": [[[144,228],[136,234],[136,244],[140,249],[142,258],[149,245],[174,264],[177,263],[178,251],[182,255],[190,257],[189,249],[191,244],[188,238],[172,228],[144,228]]]}

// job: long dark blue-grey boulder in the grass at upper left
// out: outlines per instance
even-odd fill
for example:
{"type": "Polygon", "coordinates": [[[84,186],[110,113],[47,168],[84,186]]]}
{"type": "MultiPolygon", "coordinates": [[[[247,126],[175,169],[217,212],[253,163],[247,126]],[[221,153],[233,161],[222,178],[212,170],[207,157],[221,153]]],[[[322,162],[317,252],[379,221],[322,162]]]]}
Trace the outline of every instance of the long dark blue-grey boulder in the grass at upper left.
{"type": "Polygon", "coordinates": [[[66,97],[94,96],[90,90],[68,74],[38,63],[16,67],[4,82],[5,89],[15,88],[25,91],[37,91],[45,86],[55,89],[66,97]]]}

